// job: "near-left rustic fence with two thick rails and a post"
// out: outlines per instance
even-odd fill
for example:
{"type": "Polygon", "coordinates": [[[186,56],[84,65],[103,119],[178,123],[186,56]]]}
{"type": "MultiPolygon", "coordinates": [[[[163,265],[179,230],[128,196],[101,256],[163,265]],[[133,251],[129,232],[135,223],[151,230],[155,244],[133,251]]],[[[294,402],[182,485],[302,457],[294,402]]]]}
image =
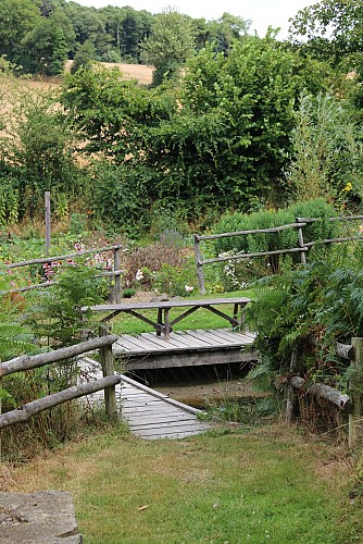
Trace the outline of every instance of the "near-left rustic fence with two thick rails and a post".
{"type": "MultiPolygon", "coordinates": [[[[100,331],[104,334],[104,330],[100,331]]],[[[100,350],[103,378],[93,380],[89,383],[74,385],[61,392],[48,395],[46,397],[27,403],[15,410],[1,413],[1,396],[0,396],[0,430],[14,423],[26,421],[36,413],[52,408],[67,400],[78,398],[84,395],[89,395],[97,391],[104,390],[105,411],[110,420],[117,417],[115,385],[121,382],[121,376],[114,374],[112,344],[116,342],[115,334],[102,335],[98,338],[92,338],[87,342],[82,342],[75,346],[64,347],[54,351],[39,354],[35,356],[16,357],[10,361],[0,363],[0,388],[2,387],[2,378],[14,372],[23,372],[36,368],[51,364],[54,362],[70,359],[95,349],[100,350]]]]}

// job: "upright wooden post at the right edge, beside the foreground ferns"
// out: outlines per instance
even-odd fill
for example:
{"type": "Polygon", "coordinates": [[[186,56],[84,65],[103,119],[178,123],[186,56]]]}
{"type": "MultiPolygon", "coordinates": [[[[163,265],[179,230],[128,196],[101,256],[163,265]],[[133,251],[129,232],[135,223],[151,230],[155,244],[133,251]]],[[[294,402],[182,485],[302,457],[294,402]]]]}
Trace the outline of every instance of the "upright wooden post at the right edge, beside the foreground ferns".
{"type": "Polygon", "coordinates": [[[350,359],[352,374],[349,383],[353,404],[353,411],[349,415],[348,444],[350,448],[356,444],[362,419],[363,338],[352,338],[352,347],[350,359]]]}

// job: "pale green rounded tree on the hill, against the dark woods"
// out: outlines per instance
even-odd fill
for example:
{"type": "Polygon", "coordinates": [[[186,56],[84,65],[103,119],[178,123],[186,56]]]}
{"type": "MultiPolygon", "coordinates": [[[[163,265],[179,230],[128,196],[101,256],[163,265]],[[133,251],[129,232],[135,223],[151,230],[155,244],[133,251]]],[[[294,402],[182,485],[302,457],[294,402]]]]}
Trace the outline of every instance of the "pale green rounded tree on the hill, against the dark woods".
{"type": "Polygon", "coordinates": [[[193,36],[190,17],[174,10],[166,10],[155,16],[152,34],[142,44],[141,58],[153,64],[153,85],[163,78],[178,76],[182,65],[191,54],[193,36]]]}

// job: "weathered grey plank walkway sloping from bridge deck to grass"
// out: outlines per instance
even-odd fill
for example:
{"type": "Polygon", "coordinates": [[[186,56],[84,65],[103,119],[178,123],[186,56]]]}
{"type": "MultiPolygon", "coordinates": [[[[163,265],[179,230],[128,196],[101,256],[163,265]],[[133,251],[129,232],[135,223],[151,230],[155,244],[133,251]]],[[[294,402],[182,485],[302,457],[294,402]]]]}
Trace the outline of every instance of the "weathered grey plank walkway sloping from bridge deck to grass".
{"type": "MultiPolygon", "coordinates": [[[[102,378],[100,363],[93,359],[82,357],[78,364],[83,381],[102,378]]],[[[185,438],[203,433],[211,426],[199,419],[202,410],[178,403],[125,375],[116,385],[116,399],[130,432],[145,440],[185,438]]],[[[84,401],[91,406],[103,403],[103,391],[88,395],[84,401]]]]}

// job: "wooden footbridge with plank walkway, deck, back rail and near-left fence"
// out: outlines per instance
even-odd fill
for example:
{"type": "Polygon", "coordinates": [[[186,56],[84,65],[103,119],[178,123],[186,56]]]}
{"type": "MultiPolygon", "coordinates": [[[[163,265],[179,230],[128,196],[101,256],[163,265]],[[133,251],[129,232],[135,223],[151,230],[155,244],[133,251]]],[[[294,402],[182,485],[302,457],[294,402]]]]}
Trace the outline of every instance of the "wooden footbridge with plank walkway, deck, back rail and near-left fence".
{"type": "MultiPolygon", "coordinates": [[[[74,398],[87,398],[88,403],[102,400],[110,419],[121,412],[128,422],[130,431],[147,440],[184,438],[204,432],[210,423],[202,420],[202,411],[171,399],[166,395],[147,387],[130,378],[114,371],[114,354],[122,356],[127,369],[154,369],[183,366],[217,364],[221,362],[246,362],[255,359],[251,349],[254,336],[241,332],[243,325],[240,310],[248,298],[224,298],[203,300],[173,300],[165,302],[145,302],[138,305],[105,305],[91,308],[105,312],[107,322],[120,312],[129,313],[148,324],[157,333],[141,335],[105,335],[74,346],[36,356],[22,356],[0,363],[2,376],[24,372],[34,368],[82,356],[80,380],[77,385],[59,393],[27,403],[20,408],[0,415],[0,429],[26,421],[39,411],[49,409],[74,398]],[[233,316],[215,308],[218,305],[234,305],[233,316]],[[171,319],[170,311],[182,308],[182,313],[171,319]],[[199,308],[224,318],[234,330],[173,331],[173,325],[199,308]],[[157,320],[143,310],[157,310],[157,320]],[[112,351],[112,345],[115,347],[112,351]],[[85,353],[100,350],[101,363],[85,353]],[[99,378],[102,376],[103,378],[99,378]]],[[[88,308],[85,308],[87,311],[88,308]]],[[[85,403],[85,400],[84,400],[85,403]]]]}

